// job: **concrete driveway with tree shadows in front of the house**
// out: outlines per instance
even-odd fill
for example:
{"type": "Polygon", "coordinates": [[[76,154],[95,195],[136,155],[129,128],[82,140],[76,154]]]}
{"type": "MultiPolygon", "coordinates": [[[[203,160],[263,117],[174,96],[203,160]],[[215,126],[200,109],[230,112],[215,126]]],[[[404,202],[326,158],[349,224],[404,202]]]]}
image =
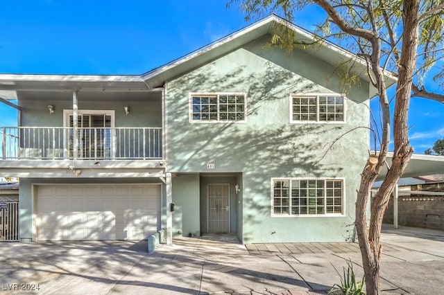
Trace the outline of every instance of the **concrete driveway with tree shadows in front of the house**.
{"type": "MultiPolygon", "coordinates": [[[[384,294],[441,292],[442,231],[387,228],[382,240],[384,294]]],[[[357,244],[0,243],[0,294],[326,294],[347,258],[361,277],[357,244]]]]}

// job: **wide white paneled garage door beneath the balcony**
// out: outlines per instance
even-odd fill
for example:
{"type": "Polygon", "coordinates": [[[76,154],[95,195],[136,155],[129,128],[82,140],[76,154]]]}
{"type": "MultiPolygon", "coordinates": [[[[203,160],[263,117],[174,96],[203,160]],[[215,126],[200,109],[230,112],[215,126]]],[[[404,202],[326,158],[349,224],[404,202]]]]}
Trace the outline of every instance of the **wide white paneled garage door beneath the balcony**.
{"type": "Polygon", "coordinates": [[[160,185],[37,186],[37,240],[142,240],[160,224],[160,185]]]}

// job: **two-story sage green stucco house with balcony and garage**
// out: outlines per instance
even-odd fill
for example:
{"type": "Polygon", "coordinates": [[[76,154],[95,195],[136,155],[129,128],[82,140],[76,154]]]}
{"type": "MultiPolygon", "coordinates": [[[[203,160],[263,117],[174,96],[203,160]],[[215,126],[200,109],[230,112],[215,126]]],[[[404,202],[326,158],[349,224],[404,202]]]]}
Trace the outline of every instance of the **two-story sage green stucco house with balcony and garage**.
{"type": "Polygon", "coordinates": [[[348,240],[375,89],[364,62],[333,44],[264,48],[281,21],[143,75],[0,75],[18,100],[19,127],[0,129],[0,176],[20,179],[20,240],[161,229],[168,242],[348,240]],[[359,82],[344,93],[338,66],[349,63],[359,82]]]}

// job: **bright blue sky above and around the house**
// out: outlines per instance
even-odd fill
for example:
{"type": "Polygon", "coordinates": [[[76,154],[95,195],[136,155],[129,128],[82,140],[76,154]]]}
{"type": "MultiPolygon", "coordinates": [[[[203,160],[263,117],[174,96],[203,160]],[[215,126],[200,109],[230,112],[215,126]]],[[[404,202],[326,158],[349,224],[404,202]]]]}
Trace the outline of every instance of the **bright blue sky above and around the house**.
{"type": "MultiPolygon", "coordinates": [[[[2,12],[0,73],[142,74],[248,25],[219,0],[15,0],[2,12]]],[[[313,30],[321,17],[310,7],[295,22],[313,30]]],[[[444,137],[444,105],[414,98],[410,109],[411,145],[423,153],[444,137]]],[[[0,114],[0,126],[17,124],[14,109],[0,104],[0,114]]]]}

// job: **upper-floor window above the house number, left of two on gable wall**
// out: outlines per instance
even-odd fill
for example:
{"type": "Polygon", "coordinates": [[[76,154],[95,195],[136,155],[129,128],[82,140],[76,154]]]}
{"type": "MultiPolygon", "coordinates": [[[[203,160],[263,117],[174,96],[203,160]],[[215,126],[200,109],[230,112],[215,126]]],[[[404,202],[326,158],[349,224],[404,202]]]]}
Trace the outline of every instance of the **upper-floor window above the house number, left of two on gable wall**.
{"type": "Polygon", "coordinates": [[[245,121],[245,94],[191,94],[192,122],[245,121]]]}

